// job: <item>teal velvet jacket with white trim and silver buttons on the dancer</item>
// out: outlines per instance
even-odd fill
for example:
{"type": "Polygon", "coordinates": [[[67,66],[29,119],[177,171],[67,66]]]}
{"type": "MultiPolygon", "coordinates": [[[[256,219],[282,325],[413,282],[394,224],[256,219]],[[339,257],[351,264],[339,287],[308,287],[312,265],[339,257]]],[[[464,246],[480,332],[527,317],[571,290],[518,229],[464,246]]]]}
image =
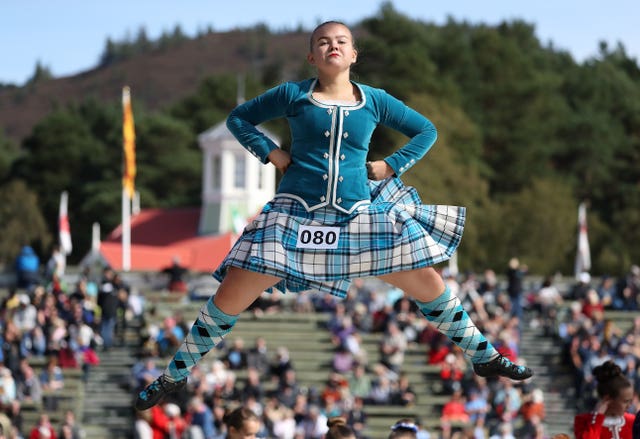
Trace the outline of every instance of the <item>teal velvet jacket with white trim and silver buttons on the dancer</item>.
{"type": "Polygon", "coordinates": [[[291,164],[276,197],[298,200],[307,211],[331,206],[351,213],[370,202],[366,160],[378,125],[393,128],[409,142],[384,161],[402,175],[431,148],[437,133],[426,117],[381,89],[355,85],[362,100],[354,105],[317,101],[316,79],[286,82],[236,107],[227,127],[263,163],[278,146],[256,128],[286,117],[291,130],[291,164]]]}

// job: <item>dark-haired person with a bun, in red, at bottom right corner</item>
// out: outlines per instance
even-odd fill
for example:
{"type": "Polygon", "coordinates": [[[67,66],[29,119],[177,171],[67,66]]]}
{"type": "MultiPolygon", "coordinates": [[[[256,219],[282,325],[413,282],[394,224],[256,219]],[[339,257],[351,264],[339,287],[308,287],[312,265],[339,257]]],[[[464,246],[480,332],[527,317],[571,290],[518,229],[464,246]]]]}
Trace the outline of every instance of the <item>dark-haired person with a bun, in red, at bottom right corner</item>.
{"type": "Polygon", "coordinates": [[[594,368],[593,375],[598,383],[598,401],[593,411],[576,415],[576,439],[636,439],[632,435],[635,416],[628,412],[634,396],[631,382],[612,361],[594,368]]]}

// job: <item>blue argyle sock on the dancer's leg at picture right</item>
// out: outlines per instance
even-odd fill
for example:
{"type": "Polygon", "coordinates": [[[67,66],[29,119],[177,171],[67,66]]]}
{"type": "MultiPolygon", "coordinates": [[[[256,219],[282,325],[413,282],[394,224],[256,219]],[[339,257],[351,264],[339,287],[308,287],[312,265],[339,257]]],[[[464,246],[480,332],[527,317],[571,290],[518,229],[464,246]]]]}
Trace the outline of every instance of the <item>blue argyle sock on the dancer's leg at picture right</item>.
{"type": "Polygon", "coordinates": [[[486,363],[499,355],[471,321],[469,314],[462,308],[460,299],[451,294],[448,286],[439,297],[430,302],[415,302],[426,319],[458,345],[472,363],[486,363]]]}

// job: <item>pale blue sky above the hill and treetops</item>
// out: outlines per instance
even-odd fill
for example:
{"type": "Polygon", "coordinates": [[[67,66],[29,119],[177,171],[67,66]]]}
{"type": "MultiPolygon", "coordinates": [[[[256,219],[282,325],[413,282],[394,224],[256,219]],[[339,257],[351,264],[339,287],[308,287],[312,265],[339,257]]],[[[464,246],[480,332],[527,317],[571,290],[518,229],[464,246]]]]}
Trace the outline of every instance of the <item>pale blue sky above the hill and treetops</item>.
{"type": "MultiPolygon", "coordinates": [[[[442,24],[447,17],[497,24],[522,19],[544,43],[578,61],[595,56],[599,41],[621,42],[640,58],[638,0],[393,0],[408,16],[442,24]]],[[[374,15],[379,0],[0,0],[0,83],[23,84],[36,63],[55,76],[94,67],[107,38],[121,41],[144,27],[150,38],[180,24],[185,34],[264,22],[273,30],[307,28],[328,19],[352,24],[374,15]]]]}

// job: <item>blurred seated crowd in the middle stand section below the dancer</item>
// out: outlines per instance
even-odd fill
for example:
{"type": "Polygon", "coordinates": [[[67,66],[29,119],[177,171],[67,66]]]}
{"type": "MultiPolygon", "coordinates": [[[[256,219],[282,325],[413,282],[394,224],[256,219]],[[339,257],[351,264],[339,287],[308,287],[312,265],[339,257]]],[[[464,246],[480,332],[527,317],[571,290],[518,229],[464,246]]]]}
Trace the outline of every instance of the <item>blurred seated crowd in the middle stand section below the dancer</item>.
{"type": "MultiPolygon", "coordinates": [[[[522,266],[518,268],[523,270],[522,266]]],[[[500,353],[519,362],[526,360],[519,358],[524,316],[533,312],[536,319],[542,320],[542,314],[527,296],[530,289],[522,285],[522,279],[517,277],[520,285],[509,290],[508,282],[501,285],[491,270],[483,276],[443,274],[500,353]],[[522,306],[514,310],[515,297],[522,301],[522,306]]],[[[543,284],[535,286],[535,291],[540,288],[543,284]]],[[[321,438],[328,418],[344,416],[358,437],[366,438],[368,406],[414,406],[421,397],[426,397],[416,388],[425,385],[431,387],[432,395],[441,396],[445,402],[435,406],[440,410],[438,428],[423,430],[423,437],[480,439],[502,437],[499,435],[505,432],[523,439],[546,437],[543,391],[532,380],[517,383],[475,375],[462,351],[430,326],[401,291],[374,281],[356,280],[346,299],[311,292],[295,295],[294,303],[287,306],[297,312],[327,315],[325,329],[335,351],[326,382],[317,388],[302,386],[286,346],[267,347],[262,337],[253,341],[253,346],[247,346],[245,340],[232,333],[220,350],[210,353],[194,368],[189,392],[173,395],[165,403],[180,408],[181,419],[194,430],[198,429],[193,424],[194,412],[201,414],[198,419],[212,420],[213,424],[207,424],[207,433],[194,437],[224,437],[224,408],[242,404],[263,419],[268,437],[321,438]],[[362,342],[371,333],[380,334],[378,349],[373,354],[362,342]],[[430,365],[430,370],[435,371],[426,384],[403,369],[408,362],[416,361],[430,365]]],[[[252,310],[260,315],[281,308],[277,294],[265,294],[252,310]]],[[[145,344],[147,355],[163,355],[159,347],[162,325],[166,325],[166,319],[150,325],[145,344]]],[[[186,327],[183,322],[182,333],[186,327]]],[[[134,393],[161,373],[154,362],[144,358],[134,368],[138,377],[132,386],[134,393]]],[[[433,415],[423,414],[425,418],[433,415]]],[[[156,422],[153,413],[146,416],[151,419],[144,421],[145,426],[166,429],[167,424],[156,422]]],[[[164,419],[166,413],[158,416],[164,419]]],[[[204,430],[202,422],[198,422],[204,430]]]]}

